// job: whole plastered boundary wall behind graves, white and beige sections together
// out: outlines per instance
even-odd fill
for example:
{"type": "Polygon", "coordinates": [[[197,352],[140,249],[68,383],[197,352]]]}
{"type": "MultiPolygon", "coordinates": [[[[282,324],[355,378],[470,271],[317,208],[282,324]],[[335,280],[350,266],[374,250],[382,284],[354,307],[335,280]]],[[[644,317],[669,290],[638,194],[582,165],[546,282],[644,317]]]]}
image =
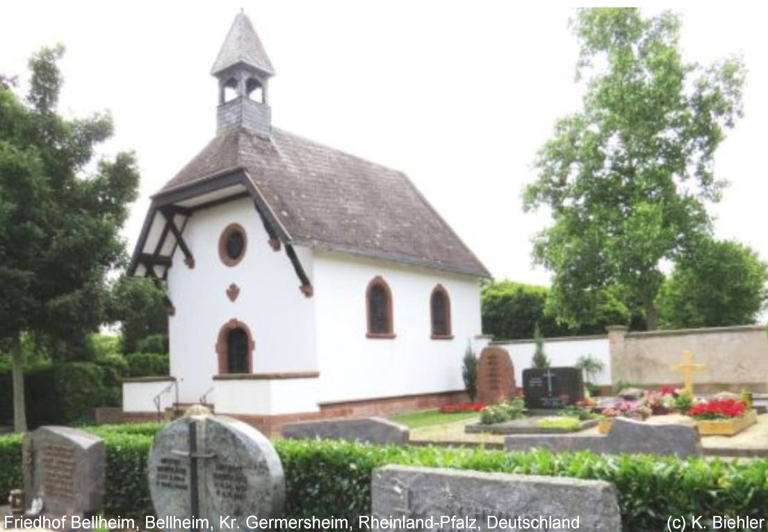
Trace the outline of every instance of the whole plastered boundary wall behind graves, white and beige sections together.
{"type": "MultiPolygon", "coordinates": [[[[694,362],[708,367],[694,373],[697,393],[742,388],[768,393],[768,334],[765,325],[627,332],[624,326],[608,327],[608,334],[545,339],[544,350],[553,366],[575,365],[581,355],[591,354],[605,368],[595,384],[614,387],[631,382],[644,388],[680,386],[683,375],[672,372],[689,349],[694,362]]],[[[506,349],[515,366],[515,380],[522,386],[522,370],[531,367],[532,340],[491,342],[506,349]]]]}

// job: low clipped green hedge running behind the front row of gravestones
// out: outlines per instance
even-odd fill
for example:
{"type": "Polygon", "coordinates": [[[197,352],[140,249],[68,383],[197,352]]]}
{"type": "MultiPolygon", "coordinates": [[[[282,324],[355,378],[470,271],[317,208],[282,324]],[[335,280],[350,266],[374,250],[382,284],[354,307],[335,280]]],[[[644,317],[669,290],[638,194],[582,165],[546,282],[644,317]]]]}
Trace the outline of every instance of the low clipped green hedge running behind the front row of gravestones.
{"type": "MultiPolygon", "coordinates": [[[[91,428],[107,444],[106,514],[140,516],[151,512],[147,453],[151,433],[140,428],[91,428]]],[[[667,516],[729,514],[765,517],[768,510],[768,460],[640,455],[600,456],[589,452],[507,453],[485,449],[396,447],[344,441],[275,442],[286,474],[286,514],[355,517],[370,511],[373,468],[385,464],[421,465],[475,471],[601,479],[618,491],[624,530],[663,530],[667,516]]],[[[21,438],[0,438],[0,497],[21,485],[21,438]]],[[[0,498],[0,500],[2,500],[0,498]]],[[[711,523],[710,523],[711,524],[711,523]]]]}

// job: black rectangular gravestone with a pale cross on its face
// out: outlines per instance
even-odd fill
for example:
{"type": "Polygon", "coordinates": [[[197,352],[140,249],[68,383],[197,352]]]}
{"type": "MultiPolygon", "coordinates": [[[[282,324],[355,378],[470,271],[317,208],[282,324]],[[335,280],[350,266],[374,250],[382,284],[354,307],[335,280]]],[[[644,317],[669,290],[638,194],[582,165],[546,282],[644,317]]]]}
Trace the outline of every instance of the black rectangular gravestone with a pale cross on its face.
{"type": "Polygon", "coordinates": [[[584,398],[584,376],[578,368],[524,369],[523,393],[529,410],[574,405],[584,398]]]}

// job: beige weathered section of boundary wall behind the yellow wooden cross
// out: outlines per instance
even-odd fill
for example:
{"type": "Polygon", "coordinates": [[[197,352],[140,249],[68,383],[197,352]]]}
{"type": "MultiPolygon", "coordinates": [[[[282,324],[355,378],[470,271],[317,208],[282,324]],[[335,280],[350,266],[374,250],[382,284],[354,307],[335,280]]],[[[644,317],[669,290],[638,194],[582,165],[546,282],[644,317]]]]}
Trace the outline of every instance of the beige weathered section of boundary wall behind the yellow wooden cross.
{"type": "Polygon", "coordinates": [[[646,387],[680,385],[682,375],[670,365],[690,350],[694,362],[707,365],[694,373],[697,393],[749,388],[768,392],[768,335],[763,325],[627,332],[611,327],[611,372],[614,383],[627,381],[646,387]]]}

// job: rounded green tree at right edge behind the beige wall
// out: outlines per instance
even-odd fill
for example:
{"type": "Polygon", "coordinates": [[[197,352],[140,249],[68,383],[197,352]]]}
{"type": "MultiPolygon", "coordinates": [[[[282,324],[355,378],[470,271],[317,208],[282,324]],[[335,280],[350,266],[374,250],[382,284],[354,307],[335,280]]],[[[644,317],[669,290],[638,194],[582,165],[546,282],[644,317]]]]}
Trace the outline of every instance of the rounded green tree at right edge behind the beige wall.
{"type": "Polygon", "coordinates": [[[768,269],[757,253],[729,240],[704,240],[676,264],[657,303],[665,329],[748,325],[768,301],[768,269]]]}

